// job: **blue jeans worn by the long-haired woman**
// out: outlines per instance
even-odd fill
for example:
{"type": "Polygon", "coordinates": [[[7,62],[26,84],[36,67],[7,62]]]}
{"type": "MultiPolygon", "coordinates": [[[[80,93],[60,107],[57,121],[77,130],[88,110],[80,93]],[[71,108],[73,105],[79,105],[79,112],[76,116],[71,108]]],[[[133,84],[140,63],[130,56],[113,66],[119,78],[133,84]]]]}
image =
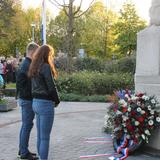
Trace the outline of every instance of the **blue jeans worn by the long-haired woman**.
{"type": "Polygon", "coordinates": [[[37,151],[41,160],[47,160],[54,121],[54,103],[50,100],[33,99],[33,110],[37,124],[37,151]]]}

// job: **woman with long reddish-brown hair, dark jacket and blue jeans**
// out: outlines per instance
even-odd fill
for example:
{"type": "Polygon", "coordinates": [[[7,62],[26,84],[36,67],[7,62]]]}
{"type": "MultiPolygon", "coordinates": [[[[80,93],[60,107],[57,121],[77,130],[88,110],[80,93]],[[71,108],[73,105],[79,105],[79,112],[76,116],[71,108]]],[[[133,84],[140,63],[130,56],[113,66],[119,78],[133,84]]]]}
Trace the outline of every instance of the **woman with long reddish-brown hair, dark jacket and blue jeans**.
{"type": "Polygon", "coordinates": [[[48,159],[54,107],[60,103],[55,84],[57,71],[53,56],[54,50],[51,46],[41,46],[33,58],[28,73],[32,81],[33,110],[37,123],[37,151],[41,160],[48,159]]]}

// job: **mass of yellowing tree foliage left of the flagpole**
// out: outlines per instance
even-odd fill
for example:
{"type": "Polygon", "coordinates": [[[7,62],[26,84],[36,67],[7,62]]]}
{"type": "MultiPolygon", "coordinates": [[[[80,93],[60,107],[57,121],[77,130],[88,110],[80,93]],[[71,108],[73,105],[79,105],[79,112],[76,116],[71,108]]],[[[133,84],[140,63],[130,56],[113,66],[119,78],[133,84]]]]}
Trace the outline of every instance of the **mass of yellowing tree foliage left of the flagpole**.
{"type": "Polygon", "coordinates": [[[21,0],[0,1],[0,53],[16,56],[16,51],[25,52],[31,41],[31,23],[36,23],[36,42],[40,42],[40,9],[24,11],[21,0]]]}

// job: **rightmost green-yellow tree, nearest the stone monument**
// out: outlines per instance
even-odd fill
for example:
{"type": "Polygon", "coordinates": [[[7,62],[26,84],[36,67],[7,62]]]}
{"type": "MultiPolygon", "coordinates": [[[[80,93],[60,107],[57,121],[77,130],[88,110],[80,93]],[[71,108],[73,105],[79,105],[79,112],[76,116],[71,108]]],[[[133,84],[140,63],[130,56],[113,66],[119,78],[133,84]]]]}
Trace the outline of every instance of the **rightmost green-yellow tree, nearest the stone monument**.
{"type": "Polygon", "coordinates": [[[115,24],[115,44],[121,56],[131,55],[136,50],[137,32],[144,29],[146,23],[142,20],[133,3],[124,3],[120,10],[118,22],[115,24]]]}

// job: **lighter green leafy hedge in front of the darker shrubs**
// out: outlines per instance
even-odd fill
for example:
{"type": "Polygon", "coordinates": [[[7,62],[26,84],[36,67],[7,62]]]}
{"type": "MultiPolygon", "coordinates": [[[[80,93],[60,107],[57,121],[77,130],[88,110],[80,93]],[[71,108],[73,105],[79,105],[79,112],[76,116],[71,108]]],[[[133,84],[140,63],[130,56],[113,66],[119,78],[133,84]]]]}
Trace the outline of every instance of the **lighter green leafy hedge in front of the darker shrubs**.
{"type": "Polygon", "coordinates": [[[60,76],[57,81],[61,93],[74,93],[80,95],[106,95],[114,90],[133,88],[133,74],[77,72],[71,75],[60,76]]]}

